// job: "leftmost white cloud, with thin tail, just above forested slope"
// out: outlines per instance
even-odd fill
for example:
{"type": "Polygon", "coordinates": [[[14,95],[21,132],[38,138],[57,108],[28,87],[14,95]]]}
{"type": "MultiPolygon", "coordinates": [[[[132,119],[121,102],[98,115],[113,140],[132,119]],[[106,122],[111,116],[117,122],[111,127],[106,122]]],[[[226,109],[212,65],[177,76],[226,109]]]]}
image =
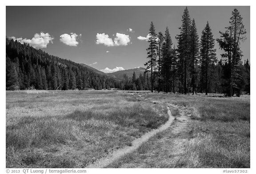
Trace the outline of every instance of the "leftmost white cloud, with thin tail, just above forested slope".
{"type": "Polygon", "coordinates": [[[40,34],[36,33],[32,39],[16,38],[14,36],[9,38],[17,40],[20,43],[28,43],[30,46],[33,46],[34,48],[46,48],[48,43],[52,43],[52,40],[54,39],[49,33],[44,32],[40,32],[40,34]]]}

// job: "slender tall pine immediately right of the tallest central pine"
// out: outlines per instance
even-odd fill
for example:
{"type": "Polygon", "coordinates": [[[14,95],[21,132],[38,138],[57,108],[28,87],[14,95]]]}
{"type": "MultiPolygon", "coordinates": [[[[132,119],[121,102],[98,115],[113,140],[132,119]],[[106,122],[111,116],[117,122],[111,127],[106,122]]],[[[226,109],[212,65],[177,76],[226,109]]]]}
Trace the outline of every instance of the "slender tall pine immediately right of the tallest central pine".
{"type": "Polygon", "coordinates": [[[191,72],[191,87],[192,87],[192,94],[195,94],[196,88],[196,66],[198,64],[198,56],[199,56],[199,37],[197,34],[196,23],[195,19],[192,20],[192,25],[190,27],[190,53],[191,53],[191,60],[190,60],[190,72],[191,72]]]}

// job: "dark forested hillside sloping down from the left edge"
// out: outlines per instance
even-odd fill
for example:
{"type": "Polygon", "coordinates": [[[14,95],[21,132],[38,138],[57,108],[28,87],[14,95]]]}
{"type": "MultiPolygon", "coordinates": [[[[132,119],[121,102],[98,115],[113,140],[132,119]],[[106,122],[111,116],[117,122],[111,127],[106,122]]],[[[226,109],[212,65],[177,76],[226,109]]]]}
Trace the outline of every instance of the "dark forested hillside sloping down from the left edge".
{"type": "Polygon", "coordinates": [[[6,39],[6,90],[108,89],[119,85],[119,81],[92,68],[6,39]]]}

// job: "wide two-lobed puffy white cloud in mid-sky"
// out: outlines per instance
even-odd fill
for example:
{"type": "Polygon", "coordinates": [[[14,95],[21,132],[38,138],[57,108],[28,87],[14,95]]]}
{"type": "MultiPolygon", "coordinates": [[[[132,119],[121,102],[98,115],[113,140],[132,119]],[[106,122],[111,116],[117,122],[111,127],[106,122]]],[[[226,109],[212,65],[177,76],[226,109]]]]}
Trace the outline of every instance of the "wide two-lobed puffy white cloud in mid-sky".
{"type": "Polygon", "coordinates": [[[96,44],[104,44],[105,46],[126,46],[130,42],[129,35],[116,33],[116,37],[114,38],[114,41],[109,38],[108,35],[105,35],[105,33],[96,35],[96,44]]]}

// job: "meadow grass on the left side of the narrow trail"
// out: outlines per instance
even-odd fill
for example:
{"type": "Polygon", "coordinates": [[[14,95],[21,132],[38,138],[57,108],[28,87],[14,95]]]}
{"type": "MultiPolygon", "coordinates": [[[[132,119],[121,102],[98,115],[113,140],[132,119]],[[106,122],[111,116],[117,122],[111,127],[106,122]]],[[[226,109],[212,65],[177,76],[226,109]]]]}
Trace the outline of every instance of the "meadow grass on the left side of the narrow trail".
{"type": "Polygon", "coordinates": [[[7,92],[6,167],[83,168],[166,122],[165,109],[116,92],[7,92]]]}

